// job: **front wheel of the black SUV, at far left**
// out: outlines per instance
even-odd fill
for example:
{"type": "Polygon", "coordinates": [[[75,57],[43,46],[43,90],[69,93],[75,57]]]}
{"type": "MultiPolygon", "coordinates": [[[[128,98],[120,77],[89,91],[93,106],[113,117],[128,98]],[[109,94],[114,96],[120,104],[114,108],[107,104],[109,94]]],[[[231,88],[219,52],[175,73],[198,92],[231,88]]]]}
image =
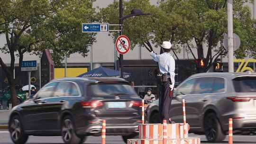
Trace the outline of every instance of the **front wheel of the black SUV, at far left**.
{"type": "Polygon", "coordinates": [[[24,133],[23,126],[18,116],[11,117],[9,122],[9,133],[14,144],[25,144],[28,135],[24,133]]]}

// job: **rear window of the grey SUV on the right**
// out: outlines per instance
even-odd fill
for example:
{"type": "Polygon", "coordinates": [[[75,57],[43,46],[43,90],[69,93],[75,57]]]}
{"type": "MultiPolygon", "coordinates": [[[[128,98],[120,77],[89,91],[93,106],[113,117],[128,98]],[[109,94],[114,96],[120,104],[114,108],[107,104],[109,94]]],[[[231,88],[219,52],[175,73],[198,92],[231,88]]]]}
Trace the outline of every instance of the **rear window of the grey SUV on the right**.
{"type": "Polygon", "coordinates": [[[236,92],[256,92],[256,77],[238,77],[233,84],[236,92]]]}

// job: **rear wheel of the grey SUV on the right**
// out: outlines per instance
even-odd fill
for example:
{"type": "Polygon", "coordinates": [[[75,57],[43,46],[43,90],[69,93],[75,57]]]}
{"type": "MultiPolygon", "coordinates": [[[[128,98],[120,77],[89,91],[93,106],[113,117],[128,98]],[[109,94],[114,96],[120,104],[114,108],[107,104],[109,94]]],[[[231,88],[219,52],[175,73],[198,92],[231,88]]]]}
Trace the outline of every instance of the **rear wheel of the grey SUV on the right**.
{"type": "Polygon", "coordinates": [[[226,138],[219,120],[214,113],[210,113],[204,117],[204,132],[209,142],[222,142],[226,138]]]}

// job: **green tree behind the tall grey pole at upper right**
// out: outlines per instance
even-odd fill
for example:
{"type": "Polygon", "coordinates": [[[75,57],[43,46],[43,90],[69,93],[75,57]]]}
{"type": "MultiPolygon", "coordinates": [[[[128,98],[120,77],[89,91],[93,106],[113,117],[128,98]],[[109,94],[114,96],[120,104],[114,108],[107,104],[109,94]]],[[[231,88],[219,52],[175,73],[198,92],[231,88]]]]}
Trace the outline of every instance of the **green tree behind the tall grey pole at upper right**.
{"type": "MultiPolygon", "coordinates": [[[[241,38],[237,57],[246,56],[245,50],[251,45],[248,34],[253,30],[253,20],[249,7],[245,6],[247,1],[234,0],[233,5],[234,33],[241,38]]],[[[167,0],[161,5],[176,2],[167,0]]],[[[197,49],[198,58],[205,58],[203,71],[206,72],[220,55],[227,54],[221,45],[223,35],[227,33],[227,0],[184,0],[180,2],[176,13],[188,22],[188,27],[182,29],[181,44],[187,44],[191,53],[192,48],[197,49]],[[207,53],[204,54],[204,51],[207,53]]]]}

